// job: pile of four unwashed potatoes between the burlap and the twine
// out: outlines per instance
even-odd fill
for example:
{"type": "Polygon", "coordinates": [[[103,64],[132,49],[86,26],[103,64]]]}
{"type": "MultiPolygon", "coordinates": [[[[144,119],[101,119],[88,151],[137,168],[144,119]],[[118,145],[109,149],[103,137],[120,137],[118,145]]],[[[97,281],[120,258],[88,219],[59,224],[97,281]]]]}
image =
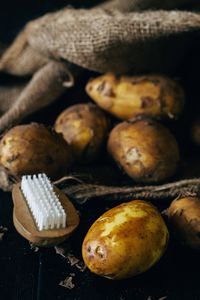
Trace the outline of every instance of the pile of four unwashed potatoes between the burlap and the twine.
{"type": "Polygon", "coordinates": [[[157,120],[177,118],[182,112],[184,92],[176,81],[159,75],[118,78],[106,74],[89,81],[86,91],[98,106],[71,106],[55,122],[54,131],[62,135],[66,149],[61,150],[61,139],[50,131],[47,134],[41,125],[21,125],[1,140],[1,165],[16,175],[44,171],[56,178],[73,160],[97,159],[108,140],[110,156],[134,181],[161,182],[175,174],[178,145],[157,120]],[[101,108],[125,121],[109,133],[111,121],[101,108]]]}

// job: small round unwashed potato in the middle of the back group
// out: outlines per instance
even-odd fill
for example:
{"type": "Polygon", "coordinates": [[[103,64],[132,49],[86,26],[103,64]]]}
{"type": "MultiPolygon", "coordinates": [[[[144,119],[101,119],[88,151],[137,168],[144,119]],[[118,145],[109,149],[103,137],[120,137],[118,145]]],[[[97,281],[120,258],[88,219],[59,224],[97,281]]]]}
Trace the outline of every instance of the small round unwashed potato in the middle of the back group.
{"type": "Polygon", "coordinates": [[[94,104],[73,105],[55,122],[55,131],[63,135],[82,162],[90,162],[98,156],[108,128],[107,117],[94,104]]]}

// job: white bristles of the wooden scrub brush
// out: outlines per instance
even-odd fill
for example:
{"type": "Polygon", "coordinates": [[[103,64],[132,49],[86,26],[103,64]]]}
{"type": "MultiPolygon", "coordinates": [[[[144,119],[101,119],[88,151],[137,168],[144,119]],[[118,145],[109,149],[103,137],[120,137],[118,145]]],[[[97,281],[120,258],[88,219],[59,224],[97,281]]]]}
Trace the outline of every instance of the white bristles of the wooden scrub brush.
{"type": "Polygon", "coordinates": [[[66,227],[66,213],[46,174],[22,176],[21,190],[38,230],[66,227]]]}

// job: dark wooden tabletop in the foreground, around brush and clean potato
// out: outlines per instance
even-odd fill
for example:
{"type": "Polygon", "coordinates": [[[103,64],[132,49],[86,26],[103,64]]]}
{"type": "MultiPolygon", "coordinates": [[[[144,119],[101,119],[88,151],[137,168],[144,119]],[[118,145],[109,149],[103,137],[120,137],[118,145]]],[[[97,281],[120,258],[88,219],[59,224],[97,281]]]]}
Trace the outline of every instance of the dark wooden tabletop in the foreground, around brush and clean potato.
{"type": "MultiPolygon", "coordinates": [[[[182,248],[173,240],[160,262],[148,272],[128,280],[111,281],[81,271],[77,264],[54,248],[31,249],[15,231],[11,194],[0,192],[0,225],[8,231],[0,241],[1,300],[199,300],[199,252],[182,248]],[[74,288],[59,285],[72,276],[74,288]]],[[[81,224],[65,243],[71,255],[81,260],[81,243],[90,224],[105,210],[105,204],[88,203],[80,211],[81,224]]]]}

